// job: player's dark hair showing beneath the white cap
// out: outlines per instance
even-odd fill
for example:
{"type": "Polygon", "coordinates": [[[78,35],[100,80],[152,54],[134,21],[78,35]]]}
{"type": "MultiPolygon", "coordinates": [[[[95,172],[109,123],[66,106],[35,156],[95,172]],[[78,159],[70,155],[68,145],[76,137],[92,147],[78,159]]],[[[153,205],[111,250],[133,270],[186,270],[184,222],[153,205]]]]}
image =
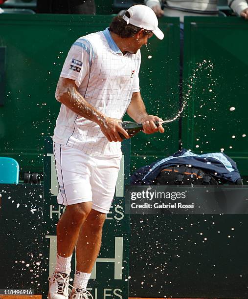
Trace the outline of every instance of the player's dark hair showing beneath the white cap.
{"type": "MultiPolygon", "coordinates": [[[[126,11],[125,15],[130,18],[129,12],[126,11]]],[[[122,19],[121,16],[114,17],[110,24],[110,31],[116,33],[122,39],[133,37],[140,29],[142,28],[132,24],[127,24],[127,22],[122,19]]],[[[144,29],[143,33],[152,34],[152,31],[144,29]]]]}

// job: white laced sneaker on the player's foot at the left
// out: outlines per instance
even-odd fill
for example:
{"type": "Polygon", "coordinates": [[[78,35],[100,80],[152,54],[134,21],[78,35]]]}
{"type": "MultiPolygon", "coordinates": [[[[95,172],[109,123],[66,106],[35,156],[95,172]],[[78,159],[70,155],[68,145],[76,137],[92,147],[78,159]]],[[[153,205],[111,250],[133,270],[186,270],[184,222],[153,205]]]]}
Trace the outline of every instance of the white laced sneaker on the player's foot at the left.
{"type": "Polygon", "coordinates": [[[49,280],[48,299],[68,299],[69,275],[66,273],[54,273],[49,280]]]}

